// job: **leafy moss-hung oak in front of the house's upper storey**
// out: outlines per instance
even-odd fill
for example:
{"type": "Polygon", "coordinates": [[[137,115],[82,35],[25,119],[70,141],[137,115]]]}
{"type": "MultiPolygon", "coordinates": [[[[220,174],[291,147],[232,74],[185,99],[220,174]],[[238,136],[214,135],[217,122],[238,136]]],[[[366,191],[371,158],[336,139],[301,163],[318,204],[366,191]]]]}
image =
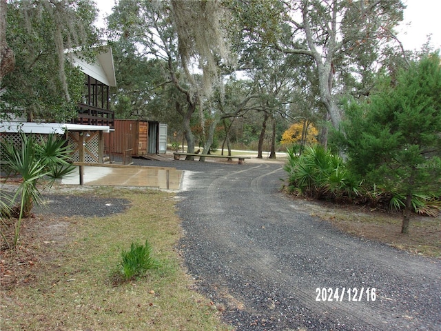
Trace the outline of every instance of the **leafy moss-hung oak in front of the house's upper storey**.
{"type": "Polygon", "coordinates": [[[83,74],[67,61],[65,50],[98,41],[94,3],[8,1],[7,12],[6,41],[16,66],[1,81],[2,117],[12,113],[28,121],[70,120],[83,94],[83,74]]]}

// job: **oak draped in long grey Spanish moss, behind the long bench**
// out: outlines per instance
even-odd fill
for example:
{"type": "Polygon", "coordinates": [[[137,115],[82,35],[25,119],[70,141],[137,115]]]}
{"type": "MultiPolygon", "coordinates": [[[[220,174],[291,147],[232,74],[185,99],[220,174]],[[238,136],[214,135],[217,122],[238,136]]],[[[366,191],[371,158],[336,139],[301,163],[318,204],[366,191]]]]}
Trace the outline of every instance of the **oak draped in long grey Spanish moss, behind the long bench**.
{"type": "Polygon", "coordinates": [[[223,14],[220,1],[121,0],[109,20],[118,39],[132,40],[143,56],[165,64],[163,84],[181,93],[170,101],[182,117],[189,152],[194,152],[193,114],[199,110],[205,128],[203,103],[218,81],[219,59],[227,62],[223,14]]]}

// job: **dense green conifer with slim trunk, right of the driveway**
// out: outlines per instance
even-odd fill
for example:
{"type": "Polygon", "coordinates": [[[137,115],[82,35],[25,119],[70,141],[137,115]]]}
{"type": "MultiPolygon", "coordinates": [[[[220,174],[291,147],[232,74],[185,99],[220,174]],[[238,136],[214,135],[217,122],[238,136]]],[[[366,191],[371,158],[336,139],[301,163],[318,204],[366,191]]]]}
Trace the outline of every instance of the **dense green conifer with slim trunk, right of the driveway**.
{"type": "Polygon", "coordinates": [[[441,66],[438,54],[383,77],[369,100],[350,103],[349,164],[370,183],[405,197],[409,231],[415,194],[441,192],[441,66]]]}

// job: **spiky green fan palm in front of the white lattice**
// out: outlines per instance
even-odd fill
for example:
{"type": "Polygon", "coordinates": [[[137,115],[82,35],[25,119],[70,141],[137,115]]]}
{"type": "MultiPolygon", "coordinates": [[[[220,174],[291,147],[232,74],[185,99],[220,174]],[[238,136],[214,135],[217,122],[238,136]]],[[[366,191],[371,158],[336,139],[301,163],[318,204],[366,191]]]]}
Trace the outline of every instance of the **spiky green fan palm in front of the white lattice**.
{"type": "Polygon", "coordinates": [[[21,146],[16,146],[8,140],[1,141],[3,170],[8,172],[8,177],[19,176],[21,179],[12,198],[12,204],[19,201],[14,246],[19,239],[21,220],[23,217],[30,217],[34,203],[39,204],[41,201],[41,192],[37,184],[49,178],[46,187],[50,187],[60,174],[68,174],[74,170],[74,166],[67,161],[70,151],[65,147],[64,139],[57,139],[50,134],[46,142],[39,142],[34,135],[27,136],[23,133],[20,134],[20,138],[21,146]]]}

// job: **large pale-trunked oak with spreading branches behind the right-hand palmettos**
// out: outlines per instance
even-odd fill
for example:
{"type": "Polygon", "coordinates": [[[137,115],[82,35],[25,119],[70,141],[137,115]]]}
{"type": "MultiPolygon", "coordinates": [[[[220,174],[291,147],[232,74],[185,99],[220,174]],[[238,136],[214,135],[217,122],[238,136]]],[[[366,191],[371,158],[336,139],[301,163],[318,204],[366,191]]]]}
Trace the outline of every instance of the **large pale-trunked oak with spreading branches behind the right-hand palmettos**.
{"type": "Polygon", "coordinates": [[[341,121],[336,79],[375,71],[384,43],[396,40],[404,9],[400,0],[232,0],[230,6],[249,42],[313,59],[334,128],[341,121]]]}

